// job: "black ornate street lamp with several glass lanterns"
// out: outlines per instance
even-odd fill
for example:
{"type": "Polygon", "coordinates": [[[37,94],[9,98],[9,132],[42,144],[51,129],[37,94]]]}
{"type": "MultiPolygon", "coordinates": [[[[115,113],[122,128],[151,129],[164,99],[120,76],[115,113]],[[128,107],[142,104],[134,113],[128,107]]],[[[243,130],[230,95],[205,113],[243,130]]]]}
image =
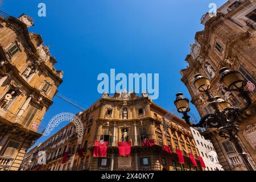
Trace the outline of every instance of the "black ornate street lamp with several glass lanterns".
{"type": "Polygon", "coordinates": [[[203,77],[200,74],[195,75],[194,85],[199,90],[208,96],[209,105],[213,108],[213,114],[204,115],[200,122],[193,124],[190,121],[188,115],[189,100],[183,96],[182,93],[176,94],[176,100],[174,102],[177,111],[183,114],[185,122],[192,127],[204,127],[204,128],[216,128],[218,129],[218,135],[220,137],[229,138],[232,140],[242,156],[248,170],[254,170],[253,164],[251,164],[247,154],[238,142],[237,136],[239,127],[236,125],[237,118],[248,109],[251,105],[251,97],[249,91],[245,90],[246,81],[238,71],[230,71],[228,68],[220,69],[221,83],[226,87],[228,91],[239,92],[238,96],[245,100],[245,107],[232,107],[229,102],[223,100],[221,97],[213,97],[209,90],[211,88],[210,81],[207,77],[203,77]]]}

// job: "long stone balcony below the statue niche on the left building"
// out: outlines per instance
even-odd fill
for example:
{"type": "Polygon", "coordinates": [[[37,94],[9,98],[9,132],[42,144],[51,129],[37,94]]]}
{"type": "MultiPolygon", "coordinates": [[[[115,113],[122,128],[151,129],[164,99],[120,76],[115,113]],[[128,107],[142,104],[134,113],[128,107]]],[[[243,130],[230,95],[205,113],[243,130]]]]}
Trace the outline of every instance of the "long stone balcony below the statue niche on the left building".
{"type": "Polygon", "coordinates": [[[23,128],[26,128],[28,130],[34,131],[39,134],[44,133],[44,127],[42,126],[36,126],[36,129],[32,128],[32,122],[27,122],[25,121],[25,118],[22,116],[17,116],[16,114],[12,113],[11,111],[7,109],[3,109],[0,107],[0,118],[6,119],[7,121],[13,122],[13,123],[18,123],[19,125],[22,125],[23,128]],[[29,125],[25,125],[29,123],[29,125]]]}

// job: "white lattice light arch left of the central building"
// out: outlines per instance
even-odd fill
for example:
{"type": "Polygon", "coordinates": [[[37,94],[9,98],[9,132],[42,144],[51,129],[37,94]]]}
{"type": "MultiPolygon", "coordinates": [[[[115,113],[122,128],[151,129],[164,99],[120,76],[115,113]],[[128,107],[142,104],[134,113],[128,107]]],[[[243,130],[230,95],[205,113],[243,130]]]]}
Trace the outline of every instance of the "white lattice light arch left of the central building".
{"type": "Polygon", "coordinates": [[[84,125],[82,125],[81,119],[73,113],[60,113],[55,115],[55,117],[49,121],[46,131],[44,131],[43,135],[48,136],[55,127],[59,126],[59,124],[64,121],[74,123],[76,126],[77,143],[81,144],[82,136],[84,135],[84,125]]]}

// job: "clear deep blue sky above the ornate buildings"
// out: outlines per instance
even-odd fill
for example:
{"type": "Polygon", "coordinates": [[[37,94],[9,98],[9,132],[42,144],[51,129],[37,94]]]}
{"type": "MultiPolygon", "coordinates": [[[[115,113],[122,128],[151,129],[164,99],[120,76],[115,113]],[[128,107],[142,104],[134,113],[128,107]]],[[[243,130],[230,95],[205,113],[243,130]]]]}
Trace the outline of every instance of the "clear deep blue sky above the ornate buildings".
{"type": "MultiPolygon", "coordinates": [[[[194,43],[195,33],[203,30],[201,16],[209,3],[225,0],[3,0],[1,10],[11,16],[22,13],[34,19],[29,28],[43,37],[56,58],[55,67],[64,71],[59,93],[86,107],[101,97],[97,92],[100,73],[159,73],[156,104],[174,109],[175,94],[189,93],[180,81],[180,69],[194,43]],[[46,4],[46,17],[38,16],[38,4],[46,4]]],[[[64,111],[79,112],[59,98],[44,116],[41,126],[64,111]]],[[[199,115],[192,106],[192,113],[199,115]]],[[[66,123],[55,129],[59,130],[66,123]]],[[[54,133],[53,132],[53,133],[54,133]]],[[[52,133],[52,134],[53,134],[52,133]]],[[[36,144],[46,140],[42,137],[36,144]]]]}

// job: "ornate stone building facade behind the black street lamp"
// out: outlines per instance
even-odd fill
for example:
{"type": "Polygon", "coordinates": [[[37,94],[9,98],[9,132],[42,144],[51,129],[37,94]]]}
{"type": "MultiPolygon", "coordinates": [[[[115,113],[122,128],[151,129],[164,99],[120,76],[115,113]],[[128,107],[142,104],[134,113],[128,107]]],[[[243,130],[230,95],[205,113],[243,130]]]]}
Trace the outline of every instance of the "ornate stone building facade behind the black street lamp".
{"type": "Polygon", "coordinates": [[[204,136],[211,140],[225,170],[255,169],[256,163],[256,126],[255,126],[255,72],[256,72],[256,6],[249,0],[226,2],[217,10],[217,15],[205,14],[201,23],[205,28],[196,32],[195,44],[186,57],[189,64],[181,70],[182,81],[192,97],[192,104],[199,114],[213,113],[208,106],[207,97],[198,92],[193,85],[196,73],[208,77],[213,96],[221,96],[232,106],[243,106],[244,101],[236,92],[227,91],[219,82],[218,71],[222,67],[237,70],[247,81],[253,104],[238,118],[240,127],[239,141],[245,154],[237,152],[234,143],[218,136],[217,129],[208,129],[204,136]],[[250,164],[246,164],[242,155],[246,155],[250,164]]]}

